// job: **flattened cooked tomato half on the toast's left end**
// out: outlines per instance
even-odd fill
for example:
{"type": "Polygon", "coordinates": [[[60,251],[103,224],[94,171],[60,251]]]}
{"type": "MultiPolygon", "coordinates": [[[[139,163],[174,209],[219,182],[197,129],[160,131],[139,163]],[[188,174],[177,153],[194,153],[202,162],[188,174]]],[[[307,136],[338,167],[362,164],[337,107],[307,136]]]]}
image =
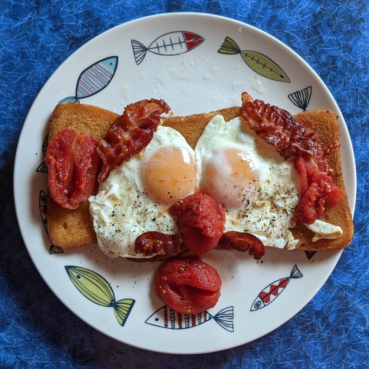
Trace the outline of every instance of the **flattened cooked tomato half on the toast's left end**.
{"type": "Polygon", "coordinates": [[[97,171],[97,140],[65,128],[50,142],[45,162],[49,167],[52,199],[67,209],[76,209],[92,193],[97,171]]]}

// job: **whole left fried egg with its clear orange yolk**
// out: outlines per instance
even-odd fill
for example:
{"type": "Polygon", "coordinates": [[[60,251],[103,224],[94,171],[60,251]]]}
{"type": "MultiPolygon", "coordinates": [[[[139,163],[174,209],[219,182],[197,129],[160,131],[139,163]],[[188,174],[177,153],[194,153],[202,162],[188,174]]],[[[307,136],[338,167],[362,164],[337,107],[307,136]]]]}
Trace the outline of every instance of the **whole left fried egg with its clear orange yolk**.
{"type": "Polygon", "coordinates": [[[193,149],[179,132],[159,126],[149,145],[111,171],[89,199],[99,248],[113,258],[145,257],[134,252],[135,239],[148,231],[178,233],[168,209],[195,190],[193,149]]]}

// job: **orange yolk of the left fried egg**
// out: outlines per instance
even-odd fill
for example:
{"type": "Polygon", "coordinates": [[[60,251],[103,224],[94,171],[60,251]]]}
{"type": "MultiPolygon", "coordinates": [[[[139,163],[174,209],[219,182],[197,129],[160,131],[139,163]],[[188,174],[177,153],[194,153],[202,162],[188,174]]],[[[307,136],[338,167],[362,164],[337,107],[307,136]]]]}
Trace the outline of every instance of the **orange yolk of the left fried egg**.
{"type": "Polygon", "coordinates": [[[192,155],[176,146],[163,147],[144,166],[148,195],[161,204],[174,204],[195,192],[196,174],[192,155]]]}

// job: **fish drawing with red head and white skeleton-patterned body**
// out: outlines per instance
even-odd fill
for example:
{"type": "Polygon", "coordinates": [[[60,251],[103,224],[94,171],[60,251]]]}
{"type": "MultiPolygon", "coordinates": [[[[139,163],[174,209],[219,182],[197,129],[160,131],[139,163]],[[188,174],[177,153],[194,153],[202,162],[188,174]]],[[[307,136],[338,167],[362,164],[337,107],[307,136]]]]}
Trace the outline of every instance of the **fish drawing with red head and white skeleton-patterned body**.
{"type": "Polygon", "coordinates": [[[204,42],[204,38],[193,32],[174,31],[159,36],[145,46],[139,41],[131,40],[136,64],[139,65],[145,59],[146,52],[150,51],[158,55],[179,55],[190,51],[204,42]]]}

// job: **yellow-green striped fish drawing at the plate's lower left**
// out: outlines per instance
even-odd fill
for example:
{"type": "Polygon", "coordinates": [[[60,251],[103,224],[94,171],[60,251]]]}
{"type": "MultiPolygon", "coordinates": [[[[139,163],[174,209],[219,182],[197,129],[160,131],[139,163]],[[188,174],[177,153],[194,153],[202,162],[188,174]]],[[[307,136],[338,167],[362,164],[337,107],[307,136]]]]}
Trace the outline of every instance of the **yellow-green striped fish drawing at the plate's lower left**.
{"type": "Polygon", "coordinates": [[[112,307],[115,318],[124,327],[135,300],[123,299],[116,301],[114,291],[108,281],[93,270],[73,265],[66,265],[65,270],[83,296],[97,305],[112,307]]]}

